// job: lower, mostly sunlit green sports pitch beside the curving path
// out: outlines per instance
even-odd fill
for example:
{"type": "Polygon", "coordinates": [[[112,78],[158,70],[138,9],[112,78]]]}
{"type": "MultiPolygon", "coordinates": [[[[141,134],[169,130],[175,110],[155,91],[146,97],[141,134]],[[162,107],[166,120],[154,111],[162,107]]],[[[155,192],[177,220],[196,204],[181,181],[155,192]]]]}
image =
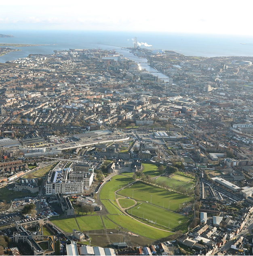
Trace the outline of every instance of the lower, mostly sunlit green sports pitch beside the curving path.
{"type": "Polygon", "coordinates": [[[180,215],[178,213],[173,213],[171,211],[168,211],[166,209],[162,209],[160,207],[147,204],[147,203],[140,203],[137,204],[132,209],[128,210],[128,213],[130,214],[132,211],[132,214],[143,218],[144,213],[144,219],[145,220],[151,220],[153,223],[156,222],[156,224],[161,225],[169,228],[171,230],[174,230],[177,228],[177,226],[181,226],[181,224],[187,222],[189,220],[188,217],[185,217],[183,215],[180,215]]]}

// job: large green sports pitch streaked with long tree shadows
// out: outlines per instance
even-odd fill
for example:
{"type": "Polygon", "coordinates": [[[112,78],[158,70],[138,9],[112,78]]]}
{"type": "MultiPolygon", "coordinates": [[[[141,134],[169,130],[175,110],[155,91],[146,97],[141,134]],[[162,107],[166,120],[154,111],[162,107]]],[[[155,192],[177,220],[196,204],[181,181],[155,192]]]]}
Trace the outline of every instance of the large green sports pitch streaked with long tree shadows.
{"type": "Polygon", "coordinates": [[[179,194],[173,191],[168,191],[166,189],[162,189],[159,187],[154,187],[152,185],[144,184],[141,182],[133,184],[131,187],[127,187],[124,190],[120,190],[119,194],[122,196],[129,196],[138,201],[151,201],[152,195],[152,203],[164,208],[169,207],[170,210],[175,211],[179,208],[179,204],[183,204],[184,201],[190,201],[192,198],[189,198],[186,195],[179,194]],[[169,201],[171,201],[169,203],[169,201]]]}

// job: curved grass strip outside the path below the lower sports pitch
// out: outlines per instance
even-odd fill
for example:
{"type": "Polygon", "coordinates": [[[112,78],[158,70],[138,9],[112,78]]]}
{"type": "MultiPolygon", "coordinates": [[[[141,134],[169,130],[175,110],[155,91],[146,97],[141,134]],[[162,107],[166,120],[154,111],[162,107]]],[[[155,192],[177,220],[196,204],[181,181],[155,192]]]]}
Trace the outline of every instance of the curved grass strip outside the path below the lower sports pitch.
{"type": "Polygon", "coordinates": [[[158,230],[156,228],[144,225],[143,223],[137,222],[135,219],[127,215],[108,215],[107,217],[113,222],[116,222],[119,226],[126,228],[127,230],[131,230],[135,234],[139,234],[150,239],[158,240],[172,234],[171,232],[167,232],[165,230],[158,230]]]}

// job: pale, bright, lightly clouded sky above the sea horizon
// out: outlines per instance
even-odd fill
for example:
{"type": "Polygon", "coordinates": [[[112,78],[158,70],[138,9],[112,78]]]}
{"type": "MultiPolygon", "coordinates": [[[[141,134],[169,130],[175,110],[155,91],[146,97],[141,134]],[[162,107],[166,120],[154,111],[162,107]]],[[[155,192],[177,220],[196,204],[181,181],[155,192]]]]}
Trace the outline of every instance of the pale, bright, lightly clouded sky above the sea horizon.
{"type": "Polygon", "coordinates": [[[8,5],[0,3],[0,33],[1,29],[50,29],[253,36],[251,19],[249,0],[13,0],[8,5]]]}

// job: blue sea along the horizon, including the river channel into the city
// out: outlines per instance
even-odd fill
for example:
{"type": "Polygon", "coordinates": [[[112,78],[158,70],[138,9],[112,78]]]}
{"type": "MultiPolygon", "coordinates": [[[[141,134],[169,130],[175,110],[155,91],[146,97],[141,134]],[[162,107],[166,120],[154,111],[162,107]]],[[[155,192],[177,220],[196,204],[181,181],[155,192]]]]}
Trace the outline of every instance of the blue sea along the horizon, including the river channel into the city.
{"type": "Polygon", "coordinates": [[[40,46],[18,47],[20,51],[0,56],[0,62],[27,57],[29,54],[53,54],[66,49],[115,49],[141,68],[167,80],[168,77],[150,67],[146,59],[133,55],[127,47],[171,50],[186,56],[253,56],[253,37],[225,34],[180,34],[162,32],[117,32],[78,30],[0,30],[14,37],[0,38],[0,43],[23,43],[40,46]],[[150,45],[150,46],[149,46],[150,45]],[[152,46],[151,46],[152,45],[152,46]]]}

